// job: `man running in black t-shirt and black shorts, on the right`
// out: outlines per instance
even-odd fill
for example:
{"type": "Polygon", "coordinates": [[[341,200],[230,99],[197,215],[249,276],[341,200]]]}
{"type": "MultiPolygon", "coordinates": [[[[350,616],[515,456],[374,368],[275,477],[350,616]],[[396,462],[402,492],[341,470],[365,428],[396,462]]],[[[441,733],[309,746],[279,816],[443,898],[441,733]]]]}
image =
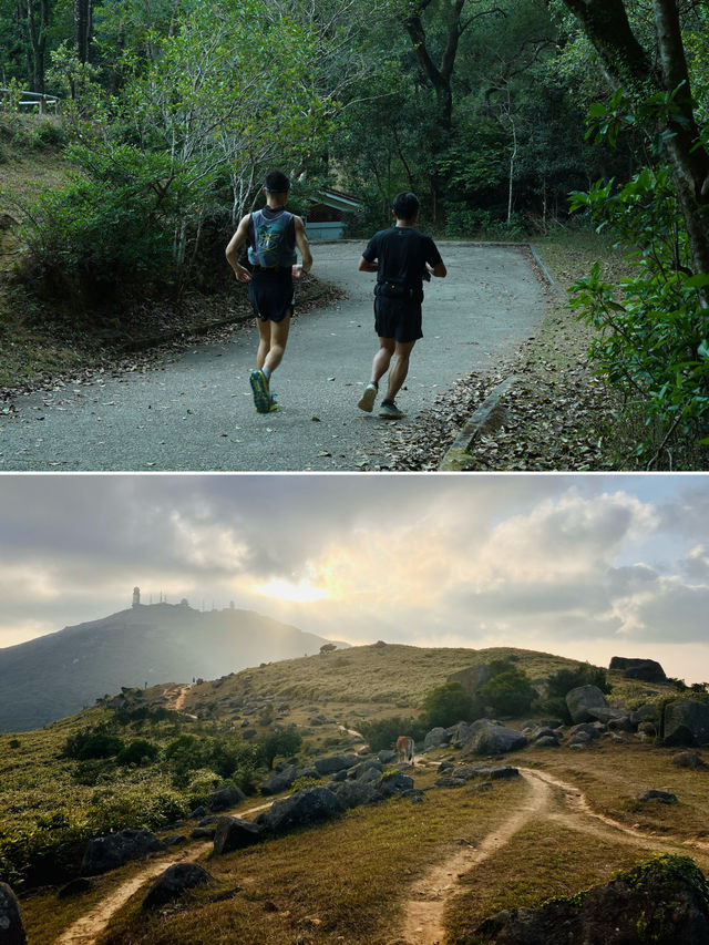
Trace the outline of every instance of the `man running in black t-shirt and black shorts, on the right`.
{"type": "Polygon", "coordinates": [[[397,225],[376,233],[359,260],[360,273],[377,273],[374,328],[379,336],[379,350],[372,361],[371,380],[358,407],[371,413],[379,381],[389,370],[393,356],[387,397],[379,409],[380,417],[391,420],[403,417],[394,398],[407,378],[411,349],[419,338],[423,338],[423,279],[431,276],[443,278],[446,274],[435,243],[414,229],[419,207],[415,194],[397,194],[393,203],[397,225]]]}

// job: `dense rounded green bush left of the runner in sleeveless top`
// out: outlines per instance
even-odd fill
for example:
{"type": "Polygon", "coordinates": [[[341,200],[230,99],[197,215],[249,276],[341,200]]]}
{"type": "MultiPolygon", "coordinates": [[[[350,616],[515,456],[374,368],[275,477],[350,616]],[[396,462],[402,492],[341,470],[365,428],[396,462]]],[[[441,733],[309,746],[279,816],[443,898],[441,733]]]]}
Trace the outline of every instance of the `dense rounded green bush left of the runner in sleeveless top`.
{"type": "Polygon", "coordinates": [[[175,234],[184,227],[189,239],[192,196],[169,154],[73,145],[66,155],[82,176],[24,207],[25,280],[83,309],[174,286],[175,234]]]}

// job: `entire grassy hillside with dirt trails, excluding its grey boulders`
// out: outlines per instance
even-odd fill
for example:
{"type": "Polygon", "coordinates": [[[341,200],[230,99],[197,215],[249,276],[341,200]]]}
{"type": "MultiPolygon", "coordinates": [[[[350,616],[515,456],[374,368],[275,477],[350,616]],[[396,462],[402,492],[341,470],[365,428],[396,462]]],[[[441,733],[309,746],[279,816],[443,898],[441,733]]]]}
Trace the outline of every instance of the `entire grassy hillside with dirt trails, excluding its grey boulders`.
{"type": "MultiPolygon", "coordinates": [[[[475,929],[486,915],[575,896],[650,853],[689,852],[707,870],[705,768],[672,766],[676,750],[623,731],[607,731],[582,750],[565,742],[528,744],[505,757],[524,777],[483,777],[464,787],[436,784],[441,762],[460,763],[456,748],[431,749],[413,769],[403,769],[414,779],[411,797],[357,807],[233,853],[215,855],[208,841],[189,834],[201,823],[208,834],[209,818],[199,821],[193,811],[208,807],[215,787],[254,792],[269,773],[266,756],[259,756],[269,738],[301,738],[299,747],[282,742],[285,754],[276,750],[276,770],[296,757],[307,766],[323,754],[358,751],[361,739],[348,729],[413,718],[450,675],[501,661],[533,678],[542,695],[549,677],[578,668],[530,650],[380,643],[194,686],[124,690],[42,730],[0,736],[0,869],[21,893],[30,942],[59,941],[101,905],[105,928],[104,920],[91,920],[99,923],[94,939],[101,945],[392,945],[409,941],[413,904],[427,901],[429,892],[421,891],[430,890],[428,912],[440,913],[446,942],[462,945],[479,942],[475,929]],[[115,739],[124,747],[142,742],[144,754],[125,763],[113,744],[113,753],[102,756],[100,749],[115,739]],[[145,744],[156,749],[153,757],[145,744]],[[660,785],[669,785],[678,801],[637,800],[660,785]],[[147,826],[160,836],[177,830],[183,840],[177,852],[129,863],[59,896],[58,887],[76,875],[85,841],[125,826],[147,826]],[[481,857],[485,866],[477,870],[481,857]],[[146,912],[141,903],[150,876],[184,860],[207,870],[208,885],[146,912]],[[450,886],[444,876],[460,879],[450,886]]],[[[670,682],[626,680],[619,670],[607,679],[616,706],[660,705],[677,695],[670,682]]],[[[532,706],[507,725],[534,717],[538,709],[532,706]]],[[[291,790],[301,787],[296,782],[291,790]]],[[[264,799],[247,797],[230,813],[248,820],[263,807],[264,799]]]]}

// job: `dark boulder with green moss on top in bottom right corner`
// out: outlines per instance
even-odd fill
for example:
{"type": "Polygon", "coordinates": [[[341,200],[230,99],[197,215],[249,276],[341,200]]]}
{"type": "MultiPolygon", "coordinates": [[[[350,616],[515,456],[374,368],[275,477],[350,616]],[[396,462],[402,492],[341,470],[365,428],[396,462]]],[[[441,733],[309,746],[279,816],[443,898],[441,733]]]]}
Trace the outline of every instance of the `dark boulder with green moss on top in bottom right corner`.
{"type": "Polygon", "coordinates": [[[476,931],[495,945],[709,945],[709,886],[688,857],[656,856],[573,898],[505,910],[476,931]]]}

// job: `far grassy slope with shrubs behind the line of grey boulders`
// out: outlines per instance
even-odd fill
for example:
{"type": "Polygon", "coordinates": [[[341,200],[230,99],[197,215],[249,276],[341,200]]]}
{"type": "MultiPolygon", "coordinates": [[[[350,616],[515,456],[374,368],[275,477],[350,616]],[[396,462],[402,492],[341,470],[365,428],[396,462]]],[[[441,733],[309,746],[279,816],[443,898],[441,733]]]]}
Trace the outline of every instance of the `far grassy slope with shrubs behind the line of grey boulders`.
{"type": "MultiPolygon", "coordinates": [[[[71,873],[73,844],[90,835],[167,824],[219,783],[250,790],[265,768],[263,759],[249,754],[249,746],[274,731],[297,726],[305,757],[342,748],[352,741],[347,730],[356,731],[358,723],[413,718],[427,694],[451,674],[507,657],[534,680],[576,666],[562,657],[508,648],[374,644],[263,665],[194,686],[126,689],[42,729],[0,736],[0,870],[7,879],[31,884],[41,883],[48,870],[62,874],[62,864],[71,873]],[[242,736],[245,729],[250,741],[242,736]],[[68,743],[82,732],[117,738],[125,747],[147,741],[160,757],[121,763],[117,748],[72,757],[68,743]],[[194,746],[212,740],[227,760],[199,759],[196,747],[171,760],[166,749],[183,737],[194,746]]],[[[669,686],[616,684],[612,698],[643,700],[674,691],[669,686]]]]}

